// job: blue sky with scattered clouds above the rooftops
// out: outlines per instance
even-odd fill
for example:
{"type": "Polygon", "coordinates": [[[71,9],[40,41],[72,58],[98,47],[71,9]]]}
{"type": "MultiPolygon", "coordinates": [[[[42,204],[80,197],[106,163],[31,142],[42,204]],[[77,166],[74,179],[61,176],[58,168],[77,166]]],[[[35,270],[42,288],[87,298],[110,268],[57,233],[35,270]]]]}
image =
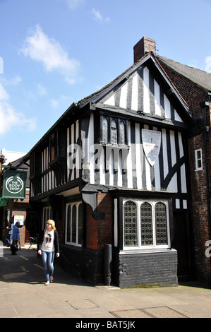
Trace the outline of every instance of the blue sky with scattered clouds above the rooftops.
{"type": "Polygon", "coordinates": [[[0,151],[27,153],[73,103],[157,54],[211,72],[211,0],[0,0],[0,151]]]}

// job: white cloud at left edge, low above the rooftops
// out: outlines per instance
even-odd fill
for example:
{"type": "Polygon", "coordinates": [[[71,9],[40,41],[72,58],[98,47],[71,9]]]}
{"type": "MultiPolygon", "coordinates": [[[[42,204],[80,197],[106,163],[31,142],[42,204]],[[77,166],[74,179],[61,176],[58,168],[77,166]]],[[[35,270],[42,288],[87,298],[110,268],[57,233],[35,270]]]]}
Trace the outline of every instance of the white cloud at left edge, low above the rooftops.
{"type": "Polygon", "coordinates": [[[16,112],[8,100],[9,95],[3,85],[0,84],[0,136],[13,129],[21,128],[33,131],[36,126],[36,119],[27,119],[25,114],[16,112]]]}

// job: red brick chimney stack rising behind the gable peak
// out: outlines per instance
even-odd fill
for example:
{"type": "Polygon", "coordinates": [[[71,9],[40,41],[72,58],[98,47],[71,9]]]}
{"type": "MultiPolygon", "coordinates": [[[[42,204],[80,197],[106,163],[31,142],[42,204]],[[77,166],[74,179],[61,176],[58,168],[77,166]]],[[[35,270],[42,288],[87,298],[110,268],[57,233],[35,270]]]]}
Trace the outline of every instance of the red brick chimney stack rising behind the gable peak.
{"type": "Polygon", "coordinates": [[[147,52],[156,53],[156,42],[148,37],[143,37],[133,47],[134,63],[142,58],[147,52]]]}

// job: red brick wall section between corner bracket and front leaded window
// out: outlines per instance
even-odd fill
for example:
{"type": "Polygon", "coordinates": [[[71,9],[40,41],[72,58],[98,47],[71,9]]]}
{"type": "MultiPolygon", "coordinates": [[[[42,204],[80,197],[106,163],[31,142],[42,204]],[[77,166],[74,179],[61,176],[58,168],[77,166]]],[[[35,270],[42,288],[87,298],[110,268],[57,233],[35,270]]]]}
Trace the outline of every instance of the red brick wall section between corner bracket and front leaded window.
{"type": "Polygon", "coordinates": [[[87,206],[87,246],[90,249],[102,250],[105,244],[112,241],[112,201],[111,195],[97,193],[97,212],[104,212],[104,219],[96,220],[92,209],[87,206]]]}

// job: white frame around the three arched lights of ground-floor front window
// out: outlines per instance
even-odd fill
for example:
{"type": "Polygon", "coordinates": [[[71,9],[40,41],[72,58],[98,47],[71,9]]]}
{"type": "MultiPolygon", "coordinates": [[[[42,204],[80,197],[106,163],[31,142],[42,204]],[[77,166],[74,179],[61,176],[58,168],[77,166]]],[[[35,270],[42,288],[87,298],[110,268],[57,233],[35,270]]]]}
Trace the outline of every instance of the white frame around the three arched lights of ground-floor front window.
{"type": "MultiPolygon", "coordinates": [[[[138,239],[138,245],[137,246],[125,246],[124,244],[124,215],[123,215],[123,250],[124,251],[131,251],[131,250],[150,250],[150,249],[169,249],[171,248],[171,242],[170,242],[170,227],[169,227],[169,203],[166,200],[162,199],[131,199],[131,198],[125,198],[123,199],[123,206],[124,203],[127,201],[132,201],[136,205],[136,211],[137,211],[137,239],[138,239]],[[153,245],[142,245],[141,244],[141,225],[140,225],[140,206],[142,203],[150,203],[152,206],[152,232],[153,232],[153,245]],[[167,212],[167,244],[164,245],[158,245],[156,244],[156,227],[155,227],[155,204],[156,203],[164,203],[166,206],[166,212],[167,212]]],[[[124,209],[123,209],[124,211],[124,209]]],[[[123,213],[123,212],[122,212],[123,213]]]]}

